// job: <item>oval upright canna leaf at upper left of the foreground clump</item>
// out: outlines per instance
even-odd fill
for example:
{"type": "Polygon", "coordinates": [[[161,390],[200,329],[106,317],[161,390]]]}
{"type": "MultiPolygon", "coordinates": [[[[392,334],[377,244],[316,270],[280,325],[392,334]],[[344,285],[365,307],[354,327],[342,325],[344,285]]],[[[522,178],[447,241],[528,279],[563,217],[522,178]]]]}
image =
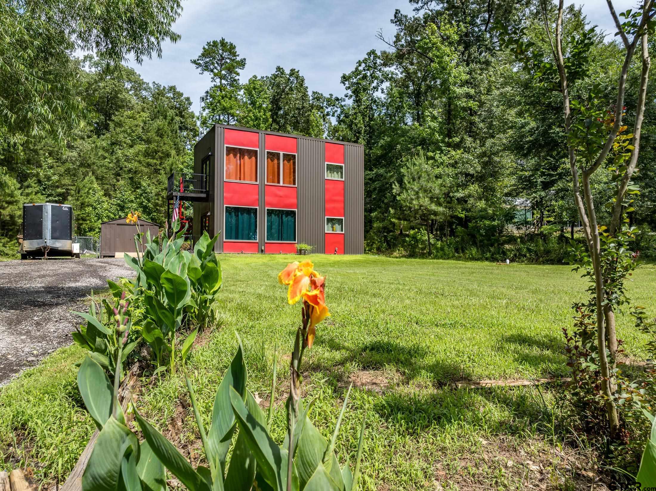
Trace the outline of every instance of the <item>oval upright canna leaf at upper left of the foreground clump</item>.
{"type": "Polygon", "coordinates": [[[114,389],[105,370],[89,357],[85,357],[77,372],[77,387],[98,429],[102,430],[112,414],[114,389]]]}

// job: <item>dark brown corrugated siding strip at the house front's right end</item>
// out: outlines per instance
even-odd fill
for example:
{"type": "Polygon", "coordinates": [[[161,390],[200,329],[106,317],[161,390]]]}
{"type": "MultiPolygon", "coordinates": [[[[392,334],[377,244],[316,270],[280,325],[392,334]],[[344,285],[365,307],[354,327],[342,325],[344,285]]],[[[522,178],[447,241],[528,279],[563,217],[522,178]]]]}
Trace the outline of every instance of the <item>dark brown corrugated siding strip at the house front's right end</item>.
{"type": "Polygon", "coordinates": [[[344,145],[344,252],[364,252],[364,148],[344,145]]]}

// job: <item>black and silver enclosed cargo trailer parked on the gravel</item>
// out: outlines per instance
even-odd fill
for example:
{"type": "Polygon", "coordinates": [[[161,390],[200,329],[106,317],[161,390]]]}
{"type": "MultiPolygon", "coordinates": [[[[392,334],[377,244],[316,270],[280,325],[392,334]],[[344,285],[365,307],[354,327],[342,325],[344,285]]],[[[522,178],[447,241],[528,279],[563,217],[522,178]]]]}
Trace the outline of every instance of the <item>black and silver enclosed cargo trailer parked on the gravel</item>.
{"type": "Polygon", "coordinates": [[[77,257],[73,250],[73,207],[59,203],[23,205],[20,258],[77,257]]]}

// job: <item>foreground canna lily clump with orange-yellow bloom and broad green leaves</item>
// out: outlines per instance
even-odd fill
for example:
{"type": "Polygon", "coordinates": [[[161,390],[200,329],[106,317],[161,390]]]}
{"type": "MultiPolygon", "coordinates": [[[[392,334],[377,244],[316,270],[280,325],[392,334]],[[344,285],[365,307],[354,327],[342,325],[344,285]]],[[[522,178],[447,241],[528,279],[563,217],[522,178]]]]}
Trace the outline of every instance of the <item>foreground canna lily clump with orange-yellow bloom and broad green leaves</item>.
{"type": "MultiPolygon", "coordinates": [[[[316,325],[329,315],[325,304],[325,279],[314,271],[312,263],[305,262],[289,265],[280,273],[279,281],[290,286],[290,303],[294,304],[303,299],[302,323],[297,330],[292,357],[292,383],[287,403],[288,431],[283,444],[277,444],[269,433],[274,415],[276,354],[274,353],[270,404],[268,415],[265,415],[253,394],[247,389],[247,368],[239,336],[237,353],[216,391],[209,431],[205,431],[186,366],[197,332],[194,331],[182,345],[182,372],[205,450],[207,466],[197,465],[194,468],[133,406],[136,422],[144,435],[144,441],[140,442],[125,423],[125,416],[117,400],[117,380],[112,387],[102,368],[87,357],[79,371],[78,385],[83,400],[100,429],[100,435],[83,475],[83,490],[165,491],[165,469],[190,491],[358,489],[364,419],[354,471],[351,471],[348,462],[344,467],[340,467],[335,456],[335,442],[351,388],[349,387],[344,397],[344,404],[330,441],[319,433],[308,417],[314,401],[304,404],[300,398],[298,370],[302,352],[312,345],[316,325]],[[229,454],[231,457],[228,459],[229,454]]],[[[117,332],[123,334],[121,340],[125,342],[125,329],[130,325],[125,321],[125,310],[119,311],[116,321],[117,332]]],[[[120,363],[120,349],[117,363],[120,363]]]]}

